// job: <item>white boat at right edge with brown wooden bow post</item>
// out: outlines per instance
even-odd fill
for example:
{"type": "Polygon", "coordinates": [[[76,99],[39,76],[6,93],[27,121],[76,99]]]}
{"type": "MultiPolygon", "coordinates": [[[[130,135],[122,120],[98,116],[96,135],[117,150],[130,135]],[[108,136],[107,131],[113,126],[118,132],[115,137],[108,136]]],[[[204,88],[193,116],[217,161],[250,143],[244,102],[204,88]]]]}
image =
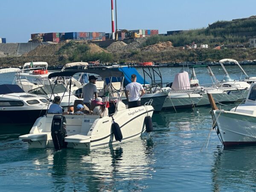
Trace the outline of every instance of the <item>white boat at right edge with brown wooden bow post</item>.
{"type": "Polygon", "coordinates": [[[256,144],[256,84],[251,84],[244,104],[230,111],[219,110],[212,99],[212,119],[224,146],[256,144]]]}

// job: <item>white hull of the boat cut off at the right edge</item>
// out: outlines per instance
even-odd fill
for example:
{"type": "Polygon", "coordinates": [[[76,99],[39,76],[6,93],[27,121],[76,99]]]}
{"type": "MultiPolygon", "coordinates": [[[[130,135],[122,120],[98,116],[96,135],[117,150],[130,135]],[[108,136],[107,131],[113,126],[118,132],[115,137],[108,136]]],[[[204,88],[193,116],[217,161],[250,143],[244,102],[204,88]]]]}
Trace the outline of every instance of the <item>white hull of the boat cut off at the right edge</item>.
{"type": "Polygon", "coordinates": [[[256,144],[256,116],[231,111],[214,111],[225,147],[256,144]]]}

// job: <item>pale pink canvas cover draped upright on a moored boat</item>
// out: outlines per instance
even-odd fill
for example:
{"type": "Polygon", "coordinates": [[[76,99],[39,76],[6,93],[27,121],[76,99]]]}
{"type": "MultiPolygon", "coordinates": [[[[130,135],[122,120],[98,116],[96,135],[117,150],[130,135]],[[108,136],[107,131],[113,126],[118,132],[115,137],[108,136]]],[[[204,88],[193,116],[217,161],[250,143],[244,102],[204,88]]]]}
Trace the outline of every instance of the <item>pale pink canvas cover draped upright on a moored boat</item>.
{"type": "Polygon", "coordinates": [[[189,90],[189,73],[184,71],[176,74],[171,88],[172,90],[189,90]]]}

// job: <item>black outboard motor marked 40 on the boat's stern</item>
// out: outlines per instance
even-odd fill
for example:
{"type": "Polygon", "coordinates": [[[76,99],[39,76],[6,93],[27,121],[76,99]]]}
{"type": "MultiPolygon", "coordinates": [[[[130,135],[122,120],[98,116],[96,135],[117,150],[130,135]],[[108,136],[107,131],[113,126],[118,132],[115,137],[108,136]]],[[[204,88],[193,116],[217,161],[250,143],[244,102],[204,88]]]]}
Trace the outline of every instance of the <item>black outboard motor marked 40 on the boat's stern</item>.
{"type": "Polygon", "coordinates": [[[67,136],[67,122],[62,115],[55,115],[52,119],[51,127],[52,142],[56,150],[61,150],[67,147],[67,142],[64,138],[67,136]]]}

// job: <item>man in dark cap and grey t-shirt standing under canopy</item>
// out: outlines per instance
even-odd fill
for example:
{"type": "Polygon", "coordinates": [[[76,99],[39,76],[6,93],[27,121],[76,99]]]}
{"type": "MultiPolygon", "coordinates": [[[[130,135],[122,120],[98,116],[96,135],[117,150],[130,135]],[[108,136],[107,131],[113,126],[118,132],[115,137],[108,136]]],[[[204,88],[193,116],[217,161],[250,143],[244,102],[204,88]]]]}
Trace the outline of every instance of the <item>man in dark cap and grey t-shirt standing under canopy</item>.
{"type": "Polygon", "coordinates": [[[90,109],[90,102],[98,97],[97,87],[96,87],[96,78],[95,76],[89,76],[89,83],[84,85],[83,87],[83,98],[84,105],[86,105],[90,109]]]}

